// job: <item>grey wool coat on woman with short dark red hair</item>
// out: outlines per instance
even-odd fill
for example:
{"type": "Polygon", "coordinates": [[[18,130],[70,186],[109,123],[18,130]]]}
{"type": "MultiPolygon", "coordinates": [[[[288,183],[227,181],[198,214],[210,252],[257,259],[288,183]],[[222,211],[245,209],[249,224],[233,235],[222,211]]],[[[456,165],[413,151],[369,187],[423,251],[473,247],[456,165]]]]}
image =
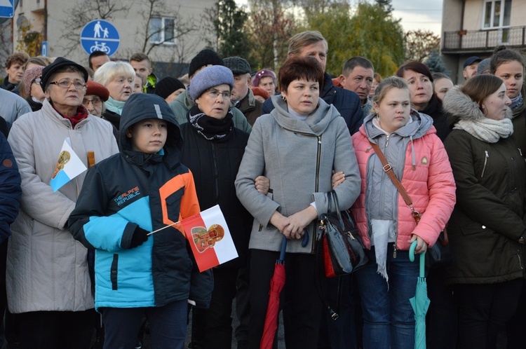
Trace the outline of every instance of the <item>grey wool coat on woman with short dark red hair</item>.
{"type": "MultiPolygon", "coordinates": [[[[345,181],[335,189],[340,210],[351,207],[360,193],[360,173],[349,129],[337,109],[321,98],[306,121],[288,113],[281,96],[273,96],[275,109],[257,118],[236,177],[236,192],[254,216],[250,249],[279,251],[283,235],[269,221],[276,210],[285,217],[316,204],[318,215],[328,212],[327,193],[332,170],[345,181]],[[270,179],[266,196],[255,189],[259,175],[270,179]]],[[[290,240],[287,252],[313,252],[316,221],[306,228],[309,244],[290,240]]]]}

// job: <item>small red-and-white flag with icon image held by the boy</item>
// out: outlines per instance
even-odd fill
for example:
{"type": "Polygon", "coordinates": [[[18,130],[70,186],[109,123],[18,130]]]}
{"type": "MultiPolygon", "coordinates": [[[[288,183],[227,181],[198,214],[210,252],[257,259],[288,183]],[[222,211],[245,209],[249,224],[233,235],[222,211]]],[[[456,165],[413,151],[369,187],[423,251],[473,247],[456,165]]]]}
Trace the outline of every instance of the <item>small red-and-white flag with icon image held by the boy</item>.
{"type": "Polygon", "coordinates": [[[219,205],[183,219],[181,224],[200,272],[237,258],[234,240],[219,205]]]}

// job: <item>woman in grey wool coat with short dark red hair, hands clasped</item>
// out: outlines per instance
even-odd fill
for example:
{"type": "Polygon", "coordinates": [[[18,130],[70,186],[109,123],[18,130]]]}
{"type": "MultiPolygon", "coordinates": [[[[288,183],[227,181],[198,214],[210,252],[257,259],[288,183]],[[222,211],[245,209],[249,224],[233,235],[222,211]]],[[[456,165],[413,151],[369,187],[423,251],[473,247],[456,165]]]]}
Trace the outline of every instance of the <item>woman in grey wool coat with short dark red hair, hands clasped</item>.
{"type": "Polygon", "coordinates": [[[328,212],[332,170],[345,175],[335,189],[341,210],[358,197],[360,175],[344,119],[319,98],[321,65],[312,57],[290,58],[279,71],[279,83],[282,95],[271,97],[275,109],[254,124],[236,178],[238,198],[255,218],[249,245],[249,347],[259,348],[270,279],[285,235],[285,343],[316,348],[323,308],[316,291],[316,223],[328,212]],[[255,187],[260,175],[270,179],[267,195],[255,187]],[[309,234],[306,246],[304,234],[309,234]]]}

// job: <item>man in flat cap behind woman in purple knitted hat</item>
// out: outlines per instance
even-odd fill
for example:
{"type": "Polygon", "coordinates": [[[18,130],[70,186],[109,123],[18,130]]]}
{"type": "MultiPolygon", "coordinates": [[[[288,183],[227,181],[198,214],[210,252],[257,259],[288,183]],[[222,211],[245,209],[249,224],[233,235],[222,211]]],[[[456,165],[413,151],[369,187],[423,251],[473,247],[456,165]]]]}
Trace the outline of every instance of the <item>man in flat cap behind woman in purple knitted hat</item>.
{"type": "Polygon", "coordinates": [[[224,65],[234,74],[231,102],[237,109],[241,110],[252,126],[256,119],[261,116],[262,103],[255,99],[254,93],[248,87],[252,81],[250,64],[241,57],[228,57],[224,59],[224,65]]]}

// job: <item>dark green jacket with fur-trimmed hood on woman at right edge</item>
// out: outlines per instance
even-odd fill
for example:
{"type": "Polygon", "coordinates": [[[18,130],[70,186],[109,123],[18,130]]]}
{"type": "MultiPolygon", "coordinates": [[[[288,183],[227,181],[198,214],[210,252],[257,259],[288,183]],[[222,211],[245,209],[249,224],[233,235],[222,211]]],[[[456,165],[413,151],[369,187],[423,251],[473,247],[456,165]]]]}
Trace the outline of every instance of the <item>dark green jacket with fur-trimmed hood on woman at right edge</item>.
{"type": "MultiPolygon", "coordinates": [[[[484,118],[470,100],[459,88],[447,93],[451,125],[484,118]]],[[[447,268],[449,281],[492,284],[523,278],[524,245],[518,240],[526,238],[526,163],[514,135],[489,143],[452,130],[444,146],[457,184],[457,204],[447,225],[455,259],[447,268]]]]}

